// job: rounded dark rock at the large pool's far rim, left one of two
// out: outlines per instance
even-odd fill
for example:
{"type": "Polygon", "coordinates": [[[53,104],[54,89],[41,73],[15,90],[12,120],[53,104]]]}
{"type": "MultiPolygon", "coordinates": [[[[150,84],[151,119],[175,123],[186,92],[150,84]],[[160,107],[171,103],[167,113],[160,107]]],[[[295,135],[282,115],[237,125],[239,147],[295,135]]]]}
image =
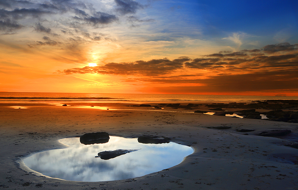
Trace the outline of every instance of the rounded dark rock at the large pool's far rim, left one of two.
{"type": "Polygon", "coordinates": [[[103,144],[107,143],[110,139],[110,136],[106,132],[97,132],[97,133],[85,133],[80,137],[80,143],[82,144],[103,144]]]}

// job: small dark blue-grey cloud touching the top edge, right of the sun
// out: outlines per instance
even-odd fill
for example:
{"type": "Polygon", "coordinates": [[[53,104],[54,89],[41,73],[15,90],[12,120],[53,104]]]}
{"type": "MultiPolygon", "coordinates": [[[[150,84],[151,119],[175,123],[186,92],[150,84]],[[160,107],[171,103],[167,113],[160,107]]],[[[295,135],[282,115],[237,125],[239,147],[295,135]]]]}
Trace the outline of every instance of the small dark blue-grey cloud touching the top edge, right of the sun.
{"type": "Polygon", "coordinates": [[[144,8],[143,5],[133,0],[115,0],[119,11],[122,15],[136,13],[136,10],[144,8]]]}

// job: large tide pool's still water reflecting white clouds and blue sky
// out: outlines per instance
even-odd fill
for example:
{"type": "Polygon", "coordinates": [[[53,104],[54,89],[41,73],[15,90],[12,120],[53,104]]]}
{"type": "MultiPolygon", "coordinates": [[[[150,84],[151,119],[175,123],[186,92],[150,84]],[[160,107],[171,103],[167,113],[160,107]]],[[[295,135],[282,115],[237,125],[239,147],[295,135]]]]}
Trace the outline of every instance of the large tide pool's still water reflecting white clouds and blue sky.
{"type": "Polygon", "coordinates": [[[136,138],[110,136],[105,144],[84,145],[79,138],[65,138],[70,148],[40,152],[24,160],[30,169],[43,175],[72,181],[109,181],[139,177],[179,164],[193,152],[173,142],[142,144],[136,138]],[[140,149],[113,159],[95,158],[99,152],[140,149]]]}

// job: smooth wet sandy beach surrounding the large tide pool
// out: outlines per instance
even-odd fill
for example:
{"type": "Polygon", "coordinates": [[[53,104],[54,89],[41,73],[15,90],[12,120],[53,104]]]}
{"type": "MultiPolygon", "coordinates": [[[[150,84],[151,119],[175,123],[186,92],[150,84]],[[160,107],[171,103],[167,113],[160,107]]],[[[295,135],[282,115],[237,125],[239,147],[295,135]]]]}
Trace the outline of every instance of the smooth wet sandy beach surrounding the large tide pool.
{"type": "Polygon", "coordinates": [[[298,124],[128,104],[76,105],[106,106],[110,110],[0,104],[0,189],[298,189],[298,149],[284,146],[298,141],[298,124]],[[212,128],[216,126],[231,128],[212,128]],[[255,131],[243,135],[236,132],[240,128],[255,131]],[[282,138],[256,136],[275,129],[292,132],[282,138]],[[26,156],[35,152],[65,147],[59,139],[101,131],[127,138],[143,134],[170,137],[173,142],[193,147],[194,153],[179,165],[159,172],[105,182],[55,179],[32,171],[23,163],[26,156]]]}

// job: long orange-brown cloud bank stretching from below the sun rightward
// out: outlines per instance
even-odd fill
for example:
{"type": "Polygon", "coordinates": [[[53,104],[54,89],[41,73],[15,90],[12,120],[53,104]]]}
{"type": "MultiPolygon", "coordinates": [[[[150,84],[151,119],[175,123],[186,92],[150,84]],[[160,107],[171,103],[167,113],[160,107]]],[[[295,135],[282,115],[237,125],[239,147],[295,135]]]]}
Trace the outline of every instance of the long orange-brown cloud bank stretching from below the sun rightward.
{"type": "Polygon", "coordinates": [[[72,68],[58,72],[134,75],[134,78],[125,78],[123,81],[150,84],[148,88],[152,92],[161,93],[275,92],[279,90],[298,92],[296,46],[276,44],[262,49],[208,54],[195,59],[179,57],[174,60],[164,58],[108,63],[103,66],[72,68]],[[181,75],[181,73],[184,74],[181,75]],[[155,84],[168,85],[168,87],[153,87],[156,86],[155,84]]]}

